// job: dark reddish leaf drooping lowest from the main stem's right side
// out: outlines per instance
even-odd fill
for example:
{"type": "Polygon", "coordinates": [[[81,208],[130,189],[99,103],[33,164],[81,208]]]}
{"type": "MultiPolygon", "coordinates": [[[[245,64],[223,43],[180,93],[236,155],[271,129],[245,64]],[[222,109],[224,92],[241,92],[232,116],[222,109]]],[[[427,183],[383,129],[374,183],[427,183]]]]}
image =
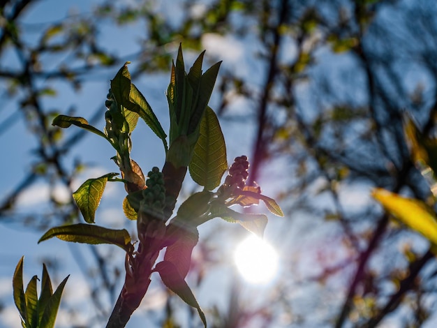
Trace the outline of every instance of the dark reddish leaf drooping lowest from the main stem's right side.
{"type": "Polygon", "coordinates": [[[193,292],[191,292],[191,289],[188,287],[188,284],[179,274],[175,264],[168,261],[159,262],[156,264],[155,271],[158,271],[164,285],[166,285],[169,290],[175,292],[175,294],[186,304],[198,310],[199,317],[206,328],[207,319],[205,318],[205,314],[203,313],[202,308],[200,308],[197,299],[195,299],[193,292]]]}

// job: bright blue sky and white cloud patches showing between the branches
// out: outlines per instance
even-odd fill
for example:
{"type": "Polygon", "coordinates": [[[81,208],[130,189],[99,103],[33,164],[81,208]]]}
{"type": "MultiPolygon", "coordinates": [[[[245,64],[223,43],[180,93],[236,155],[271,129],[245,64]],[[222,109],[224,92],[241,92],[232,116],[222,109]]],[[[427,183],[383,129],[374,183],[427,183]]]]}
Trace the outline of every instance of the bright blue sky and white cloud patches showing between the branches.
{"type": "MultiPolygon", "coordinates": [[[[34,33],[33,28],[40,26],[40,24],[46,24],[51,22],[57,22],[64,20],[65,17],[71,15],[91,15],[91,8],[94,3],[99,1],[59,1],[59,0],[42,0],[38,1],[35,6],[29,10],[25,16],[23,23],[27,27],[27,33],[29,35],[29,42],[33,42],[34,33]],[[73,9],[72,9],[73,8],[73,9]]],[[[127,2],[127,1],[125,1],[127,2]]],[[[159,2],[159,1],[156,1],[159,2]]],[[[173,15],[177,12],[174,10],[175,1],[161,1],[160,5],[163,13],[173,15]],[[170,9],[171,10],[170,10],[170,9]]],[[[195,10],[195,15],[202,15],[202,6],[198,6],[195,10]]],[[[175,17],[172,17],[175,19],[175,17]]],[[[105,24],[104,29],[101,32],[101,40],[105,47],[108,47],[115,54],[120,56],[127,56],[128,54],[135,53],[137,46],[135,45],[138,38],[141,36],[143,27],[141,25],[129,24],[126,27],[112,27],[110,24],[105,24]]],[[[225,70],[232,70],[239,77],[242,77],[249,81],[248,87],[257,94],[262,87],[264,79],[265,66],[260,61],[254,59],[253,53],[260,51],[260,45],[251,36],[232,37],[232,36],[218,36],[216,34],[205,34],[202,36],[202,45],[207,50],[206,57],[209,61],[223,60],[221,72],[225,70]]],[[[168,51],[174,54],[177,52],[177,45],[173,48],[169,48],[168,51]]],[[[292,57],[295,54],[295,48],[290,40],[283,47],[283,57],[292,57]]],[[[191,64],[197,54],[187,52],[185,55],[186,64],[191,64]]],[[[319,71],[325,72],[327,75],[335,73],[334,79],[341,79],[343,73],[348,73],[350,66],[355,65],[351,61],[347,54],[339,56],[338,54],[332,54],[327,48],[318,52],[320,57],[320,63],[317,68],[319,71]]],[[[127,58],[129,59],[129,58],[127,58]]],[[[59,60],[59,59],[58,59],[59,60]]],[[[9,57],[2,58],[1,65],[16,65],[16,58],[14,54],[9,54],[9,57]]],[[[45,59],[47,67],[56,67],[59,62],[52,61],[52,59],[45,59]]],[[[131,64],[132,68],[135,68],[135,61],[131,64]]],[[[169,68],[170,70],[170,68],[169,68]]],[[[67,85],[59,85],[59,94],[54,98],[45,98],[45,107],[53,108],[61,113],[66,113],[73,106],[75,108],[75,115],[89,118],[96,109],[102,107],[105,101],[105,97],[109,87],[110,79],[117,73],[116,68],[110,70],[102,70],[98,76],[94,77],[89,82],[85,82],[81,91],[75,94],[67,85]]],[[[135,78],[133,81],[138,89],[145,95],[151,107],[160,119],[164,129],[168,128],[168,107],[167,100],[165,99],[165,89],[169,80],[169,73],[162,73],[158,75],[146,75],[135,78]]],[[[411,74],[411,73],[410,73],[411,74]]],[[[410,83],[413,85],[415,80],[422,80],[424,77],[412,74],[414,79],[410,79],[410,83]],[[414,80],[414,81],[413,81],[414,80]]],[[[355,76],[354,83],[357,84],[357,88],[362,83],[362,76],[355,76]]],[[[425,79],[426,81],[426,79],[425,79]]],[[[349,85],[345,90],[348,90],[349,85]]],[[[0,97],[3,93],[3,86],[0,85],[0,97]]],[[[299,86],[299,95],[297,96],[302,107],[309,108],[305,112],[305,119],[311,121],[316,112],[311,110],[313,103],[316,101],[316,97],[313,96],[315,90],[311,89],[309,84],[302,83],[299,86]]],[[[338,90],[341,94],[342,90],[338,90]]],[[[362,92],[356,94],[342,94],[346,99],[353,96],[358,103],[365,101],[365,96],[362,92]]],[[[1,99],[1,98],[0,98],[1,99]]],[[[214,105],[218,103],[218,99],[213,95],[210,105],[214,108],[214,105]]],[[[232,161],[232,158],[242,154],[249,154],[251,152],[252,140],[253,140],[253,127],[254,122],[250,113],[253,112],[255,107],[255,100],[246,100],[244,98],[233,99],[230,110],[233,113],[239,114],[242,117],[247,117],[244,121],[221,121],[221,127],[225,135],[225,140],[228,144],[228,162],[232,161]],[[249,113],[249,114],[248,114],[249,113]],[[237,140],[238,142],[235,142],[237,140]]],[[[7,117],[8,114],[15,112],[17,108],[12,102],[3,103],[0,106],[0,124],[3,121],[3,117],[7,117]]],[[[279,117],[281,119],[281,117],[279,117]]],[[[96,124],[97,128],[103,128],[104,119],[96,124]]],[[[71,135],[74,127],[64,131],[65,135],[71,135]]],[[[22,124],[22,120],[17,121],[16,124],[8,128],[7,133],[0,135],[0,142],[3,145],[3,161],[0,161],[0,170],[3,172],[0,183],[0,197],[7,195],[8,191],[11,191],[14,186],[21,181],[29,167],[31,167],[32,161],[34,161],[31,155],[31,150],[36,147],[36,140],[33,139],[31,133],[27,131],[22,124]]],[[[149,131],[149,129],[143,124],[142,121],[138,123],[138,128],[133,133],[133,159],[137,161],[143,170],[146,171],[149,167],[154,165],[162,166],[164,157],[161,141],[149,131]]],[[[87,170],[75,181],[75,185],[79,186],[82,181],[89,177],[99,177],[107,172],[116,172],[117,167],[110,161],[110,158],[114,156],[114,151],[110,145],[96,135],[89,134],[77,144],[74,151],[66,159],[66,163],[73,162],[76,156],[86,158],[88,166],[87,170]]],[[[285,191],[288,186],[283,183],[283,174],[289,174],[290,177],[295,174],[292,172],[290,163],[287,160],[279,159],[274,162],[274,165],[265,167],[260,177],[261,186],[266,195],[274,195],[278,191],[285,191]]],[[[295,168],[295,167],[294,167],[295,168]]],[[[313,202],[316,206],[320,206],[320,211],[332,206],[332,200],[327,197],[326,194],[320,193],[320,190],[325,186],[326,181],[318,179],[314,181],[310,190],[310,197],[313,197],[313,202]]],[[[191,191],[193,184],[190,184],[189,178],[186,185],[185,192],[191,191]]],[[[339,194],[342,202],[346,204],[348,211],[357,211],[360,208],[364,208],[371,203],[369,197],[369,191],[371,186],[365,184],[340,186],[339,194]]],[[[101,206],[99,207],[96,220],[98,224],[112,226],[113,228],[120,228],[126,226],[128,230],[133,229],[133,223],[127,221],[121,211],[121,201],[124,197],[125,191],[121,184],[108,184],[108,188],[103,195],[101,206]]],[[[29,188],[29,191],[23,195],[19,200],[20,209],[22,213],[38,213],[45,209],[45,200],[48,197],[48,189],[43,181],[37,181],[34,186],[29,188]]],[[[57,190],[57,197],[68,197],[68,191],[59,187],[57,190]]],[[[284,202],[283,207],[289,206],[294,199],[289,198],[287,202],[284,202]]],[[[265,209],[262,208],[262,211],[265,209]]],[[[276,218],[269,217],[269,224],[267,225],[266,239],[271,241],[276,248],[282,253],[284,262],[292,267],[293,271],[290,272],[290,285],[295,285],[294,294],[289,295],[290,299],[294,300],[295,311],[297,313],[308,313],[307,308],[314,306],[319,309],[316,315],[309,318],[309,324],[312,326],[306,327],[318,327],[318,320],[325,315],[329,316],[329,311],[337,306],[343,300],[344,285],[341,285],[343,281],[334,281],[332,285],[320,286],[316,283],[309,285],[306,288],[301,288],[299,281],[302,281],[308,274],[318,274],[318,263],[313,257],[308,254],[322,254],[327,255],[326,261],[335,262],[338,259],[346,256],[346,248],[338,240],[340,234],[339,227],[335,223],[327,223],[324,229],[319,229],[322,222],[320,218],[309,217],[299,211],[292,214],[292,218],[276,218]],[[326,244],[329,243],[329,248],[326,244]],[[334,251],[332,251],[334,250],[334,251]],[[324,253],[331,252],[331,253],[324,253]],[[331,288],[331,289],[329,289],[331,288]],[[308,295],[321,295],[323,292],[324,297],[314,299],[314,297],[308,297],[308,295]],[[321,311],[320,311],[321,309],[321,311]],[[320,313],[321,312],[321,313],[320,313]]],[[[200,227],[201,239],[208,238],[211,234],[216,232],[216,239],[218,244],[223,244],[221,241],[225,240],[227,243],[223,246],[223,258],[232,258],[232,247],[236,245],[237,237],[241,237],[247,234],[238,226],[232,226],[235,232],[230,233],[228,223],[222,223],[215,221],[207,223],[205,226],[200,227]]],[[[0,313],[0,328],[15,328],[21,327],[20,320],[18,318],[18,312],[15,306],[12,305],[12,288],[11,278],[13,276],[13,270],[15,264],[22,255],[25,255],[24,260],[24,281],[27,283],[29,278],[34,275],[40,275],[42,269],[40,262],[47,255],[50,258],[59,262],[61,270],[57,272],[54,277],[54,281],[61,281],[64,276],[71,274],[65,290],[65,301],[69,304],[73,304],[77,308],[82,309],[80,316],[75,318],[76,322],[80,320],[87,320],[89,315],[89,306],[87,306],[86,300],[87,288],[84,288],[84,274],[77,265],[75,256],[81,254],[84,259],[89,255],[89,249],[87,246],[79,244],[68,244],[57,239],[45,241],[41,244],[37,244],[40,237],[40,232],[33,232],[27,228],[23,228],[20,223],[6,223],[0,225],[0,300],[6,301],[10,305],[6,310],[0,313]]],[[[415,243],[417,249],[424,249],[427,247],[427,243],[417,236],[410,237],[415,243]]],[[[399,243],[400,247],[401,243],[399,243]]],[[[121,251],[114,250],[114,247],[98,246],[98,250],[108,256],[114,256],[119,258],[120,262],[123,261],[124,255],[121,251]]],[[[316,256],[316,255],[315,255],[316,256]]],[[[228,297],[227,288],[230,278],[235,274],[233,271],[232,261],[225,263],[225,265],[218,267],[212,274],[209,274],[206,278],[202,288],[196,290],[200,304],[208,308],[212,304],[219,304],[222,308],[225,308],[228,297]],[[225,292],[223,292],[223,290],[225,292]]],[[[346,270],[347,271],[347,270],[346,270]]],[[[347,272],[351,274],[353,270],[347,272]]],[[[157,276],[152,276],[154,281],[158,281],[157,276]]],[[[244,285],[244,297],[248,300],[255,298],[263,299],[267,297],[269,293],[268,288],[254,287],[244,285]]],[[[162,302],[165,300],[165,295],[158,283],[152,285],[149,290],[149,299],[145,301],[142,309],[135,313],[135,316],[129,322],[127,327],[145,327],[145,308],[160,308],[162,302]],[[151,300],[151,301],[149,301],[151,300]]],[[[182,302],[180,303],[182,304],[182,302]]],[[[181,311],[179,313],[182,318],[182,323],[185,324],[186,312],[181,311]],[[185,315],[185,316],[184,316],[185,315]]],[[[284,327],[287,327],[287,320],[290,318],[283,318],[284,327]]],[[[70,327],[71,320],[66,313],[61,311],[59,315],[59,321],[57,327],[64,328],[70,327]]],[[[101,326],[98,326],[101,327],[101,326]]],[[[184,326],[186,327],[186,326],[184,326]]],[[[387,323],[385,327],[397,327],[396,323],[390,325],[387,323]]],[[[431,326],[430,326],[431,327],[431,326]]]]}

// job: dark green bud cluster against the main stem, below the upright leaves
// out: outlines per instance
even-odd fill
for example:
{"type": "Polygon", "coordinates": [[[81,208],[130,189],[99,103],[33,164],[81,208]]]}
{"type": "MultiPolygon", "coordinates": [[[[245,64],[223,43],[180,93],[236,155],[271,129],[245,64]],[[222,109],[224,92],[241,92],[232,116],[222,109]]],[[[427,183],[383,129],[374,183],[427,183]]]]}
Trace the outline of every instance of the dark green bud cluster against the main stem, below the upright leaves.
{"type": "Polygon", "coordinates": [[[142,191],[142,206],[149,209],[162,211],[165,204],[165,187],[164,177],[162,172],[159,172],[158,167],[154,167],[147,174],[149,179],[146,181],[146,186],[142,191]]]}

